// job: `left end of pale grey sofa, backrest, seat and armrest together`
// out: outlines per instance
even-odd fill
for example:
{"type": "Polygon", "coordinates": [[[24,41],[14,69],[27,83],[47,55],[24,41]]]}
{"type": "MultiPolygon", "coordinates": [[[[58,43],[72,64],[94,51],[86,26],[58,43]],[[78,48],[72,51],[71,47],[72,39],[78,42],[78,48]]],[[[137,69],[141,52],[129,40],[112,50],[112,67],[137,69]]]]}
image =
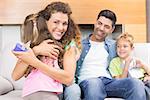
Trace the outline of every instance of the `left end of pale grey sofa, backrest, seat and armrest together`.
{"type": "Polygon", "coordinates": [[[1,50],[0,58],[0,100],[22,100],[21,90],[24,78],[13,81],[12,70],[17,58],[11,53],[15,43],[9,43],[1,50]]]}

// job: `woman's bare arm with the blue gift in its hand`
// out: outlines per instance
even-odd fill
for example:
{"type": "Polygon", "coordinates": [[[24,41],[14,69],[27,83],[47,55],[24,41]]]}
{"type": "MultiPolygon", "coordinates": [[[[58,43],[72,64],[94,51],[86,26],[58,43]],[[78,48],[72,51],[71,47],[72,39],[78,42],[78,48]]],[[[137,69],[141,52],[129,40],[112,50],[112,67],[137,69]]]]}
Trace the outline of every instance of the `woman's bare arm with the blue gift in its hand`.
{"type": "Polygon", "coordinates": [[[74,79],[74,74],[76,70],[76,47],[71,47],[68,49],[63,58],[63,70],[50,67],[47,64],[44,64],[39,59],[36,58],[35,54],[31,49],[27,52],[15,52],[15,55],[20,58],[25,63],[41,70],[46,75],[51,78],[66,84],[70,85],[74,79]]]}

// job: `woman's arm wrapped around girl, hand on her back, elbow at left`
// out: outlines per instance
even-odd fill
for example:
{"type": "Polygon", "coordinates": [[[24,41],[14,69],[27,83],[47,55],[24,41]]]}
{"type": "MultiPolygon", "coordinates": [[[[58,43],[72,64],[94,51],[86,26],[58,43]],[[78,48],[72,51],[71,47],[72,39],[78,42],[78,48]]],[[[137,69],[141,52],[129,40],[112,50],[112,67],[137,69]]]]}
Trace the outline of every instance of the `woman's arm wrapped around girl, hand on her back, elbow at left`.
{"type": "MultiPolygon", "coordinates": [[[[33,51],[35,55],[45,55],[45,56],[49,56],[53,59],[56,59],[58,54],[59,54],[59,50],[58,48],[60,48],[57,45],[54,44],[50,44],[51,42],[53,42],[52,40],[45,40],[42,43],[40,43],[38,46],[33,47],[33,51]]],[[[13,52],[14,53],[14,52],[13,52]]],[[[14,53],[15,55],[15,53],[14,53]]],[[[17,55],[15,55],[17,56],[17,55]]],[[[28,68],[29,64],[23,62],[21,59],[19,59],[16,63],[16,66],[12,72],[12,79],[13,80],[18,80],[20,78],[22,78],[28,68]]]]}

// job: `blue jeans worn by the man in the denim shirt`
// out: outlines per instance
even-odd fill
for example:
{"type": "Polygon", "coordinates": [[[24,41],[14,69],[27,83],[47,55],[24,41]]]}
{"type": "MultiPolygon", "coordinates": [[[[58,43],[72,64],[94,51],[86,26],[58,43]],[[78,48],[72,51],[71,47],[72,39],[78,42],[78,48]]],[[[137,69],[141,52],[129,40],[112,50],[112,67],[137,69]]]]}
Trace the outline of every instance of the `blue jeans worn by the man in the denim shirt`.
{"type": "Polygon", "coordinates": [[[99,77],[84,80],[79,86],[83,92],[84,100],[104,100],[106,97],[146,100],[144,84],[138,79],[99,77]]]}

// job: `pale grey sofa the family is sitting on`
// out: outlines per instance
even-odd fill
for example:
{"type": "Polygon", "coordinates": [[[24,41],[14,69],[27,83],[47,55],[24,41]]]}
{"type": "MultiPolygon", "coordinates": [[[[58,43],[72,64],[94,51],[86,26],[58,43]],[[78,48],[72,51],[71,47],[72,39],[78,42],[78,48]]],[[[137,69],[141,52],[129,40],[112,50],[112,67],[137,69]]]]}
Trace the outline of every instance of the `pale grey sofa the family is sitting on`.
{"type": "MultiPolygon", "coordinates": [[[[17,58],[11,53],[15,43],[9,43],[0,52],[0,100],[22,100],[21,91],[24,78],[19,81],[11,79],[11,72],[17,58]]],[[[136,43],[132,53],[150,66],[150,43],[136,43]]],[[[123,100],[121,98],[106,98],[105,100],[123,100]]]]}

